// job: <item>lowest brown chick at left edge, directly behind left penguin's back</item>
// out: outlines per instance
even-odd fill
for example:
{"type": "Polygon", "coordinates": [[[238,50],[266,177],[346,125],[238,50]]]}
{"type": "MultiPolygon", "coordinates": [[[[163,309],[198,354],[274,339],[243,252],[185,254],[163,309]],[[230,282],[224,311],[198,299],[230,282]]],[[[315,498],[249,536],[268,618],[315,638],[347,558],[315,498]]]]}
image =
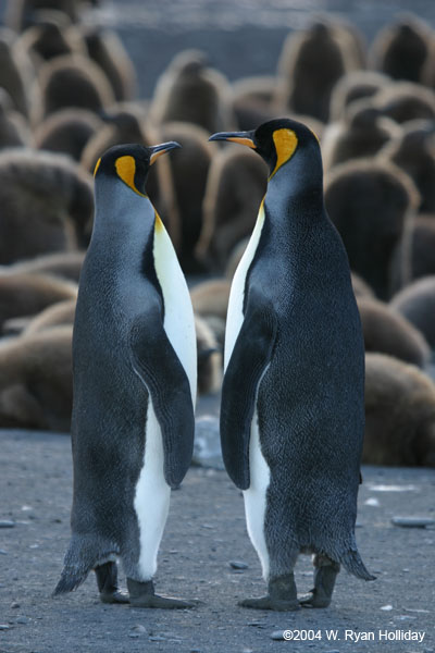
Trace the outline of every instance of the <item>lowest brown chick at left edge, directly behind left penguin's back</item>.
{"type": "Polygon", "coordinates": [[[0,343],[0,427],[70,430],[72,326],[0,343]]]}

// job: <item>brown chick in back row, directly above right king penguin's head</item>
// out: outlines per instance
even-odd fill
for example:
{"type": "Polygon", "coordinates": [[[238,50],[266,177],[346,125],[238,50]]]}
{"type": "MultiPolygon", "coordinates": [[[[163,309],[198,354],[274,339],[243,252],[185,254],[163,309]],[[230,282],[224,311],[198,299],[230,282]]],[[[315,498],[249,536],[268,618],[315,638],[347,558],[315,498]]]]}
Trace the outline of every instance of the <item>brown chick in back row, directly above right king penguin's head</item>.
{"type": "Polygon", "coordinates": [[[356,67],[348,45],[328,24],[319,22],[291,32],[278,63],[282,82],[277,103],[327,122],[332,89],[341,75],[356,67]]]}

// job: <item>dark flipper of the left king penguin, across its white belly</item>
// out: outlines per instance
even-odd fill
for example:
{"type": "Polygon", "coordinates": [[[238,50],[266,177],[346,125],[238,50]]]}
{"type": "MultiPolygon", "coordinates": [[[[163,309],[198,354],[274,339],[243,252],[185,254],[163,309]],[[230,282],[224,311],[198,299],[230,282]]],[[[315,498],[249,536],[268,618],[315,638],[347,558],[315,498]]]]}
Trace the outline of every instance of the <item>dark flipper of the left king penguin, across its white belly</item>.
{"type": "Polygon", "coordinates": [[[194,452],[195,416],[187,374],[158,309],[140,315],[130,331],[133,367],[150,393],[162,430],[164,478],[179,485],[194,452]]]}

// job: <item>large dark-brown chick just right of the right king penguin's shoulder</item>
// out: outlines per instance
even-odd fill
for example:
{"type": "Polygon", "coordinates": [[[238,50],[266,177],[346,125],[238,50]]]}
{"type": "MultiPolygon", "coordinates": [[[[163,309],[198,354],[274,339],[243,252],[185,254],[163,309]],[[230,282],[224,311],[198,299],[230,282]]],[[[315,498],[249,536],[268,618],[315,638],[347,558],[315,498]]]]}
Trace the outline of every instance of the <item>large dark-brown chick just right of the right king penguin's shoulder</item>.
{"type": "Polygon", "coordinates": [[[390,163],[347,161],[326,177],[326,210],[341,235],[350,268],[381,299],[390,295],[391,257],[419,201],[412,180],[390,163]]]}

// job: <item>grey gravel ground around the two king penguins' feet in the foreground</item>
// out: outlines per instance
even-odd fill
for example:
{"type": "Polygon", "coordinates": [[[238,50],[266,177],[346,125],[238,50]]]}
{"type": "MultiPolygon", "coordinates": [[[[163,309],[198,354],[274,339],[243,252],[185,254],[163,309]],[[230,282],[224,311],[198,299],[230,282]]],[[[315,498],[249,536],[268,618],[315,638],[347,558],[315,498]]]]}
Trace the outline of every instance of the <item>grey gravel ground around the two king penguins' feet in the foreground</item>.
{"type": "MultiPolygon", "coordinates": [[[[1,431],[0,440],[0,520],[14,522],[0,529],[0,653],[373,653],[380,630],[389,637],[424,633],[421,643],[382,640],[385,652],[435,651],[434,527],[405,529],[390,521],[435,517],[432,470],[363,468],[357,538],[377,580],[363,582],[344,571],[330,608],[278,614],[236,605],[264,590],[243,498],[224,471],[192,467],[173,493],[156,584],[163,594],[201,603],[192,611],[133,609],[101,604],[94,578],[73,594],[51,599],[70,535],[70,439],[1,431]],[[247,568],[233,569],[235,560],[247,568]],[[272,633],[284,629],[322,639],[274,641],[272,633]],[[346,640],[346,630],[353,638],[374,633],[374,642],[346,640]],[[328,631],[339,639],[328,640],[328,631]]],[[[302,593],[311,587],[311,569],[301,556],[296,579],[302,593]]]]}

